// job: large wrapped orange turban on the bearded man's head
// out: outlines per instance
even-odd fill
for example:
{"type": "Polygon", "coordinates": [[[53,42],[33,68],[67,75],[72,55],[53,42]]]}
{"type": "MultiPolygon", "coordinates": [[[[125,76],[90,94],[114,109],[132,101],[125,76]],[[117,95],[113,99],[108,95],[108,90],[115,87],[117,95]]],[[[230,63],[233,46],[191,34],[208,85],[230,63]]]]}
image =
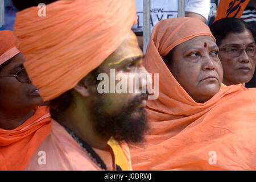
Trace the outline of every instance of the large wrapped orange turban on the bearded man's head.
{"type": "Polygon", "coordinates": [[[16,14],[16,47],[44,101],[72,89],[125,39],[137,20],[134,0],[56,1],[16,14]]]}

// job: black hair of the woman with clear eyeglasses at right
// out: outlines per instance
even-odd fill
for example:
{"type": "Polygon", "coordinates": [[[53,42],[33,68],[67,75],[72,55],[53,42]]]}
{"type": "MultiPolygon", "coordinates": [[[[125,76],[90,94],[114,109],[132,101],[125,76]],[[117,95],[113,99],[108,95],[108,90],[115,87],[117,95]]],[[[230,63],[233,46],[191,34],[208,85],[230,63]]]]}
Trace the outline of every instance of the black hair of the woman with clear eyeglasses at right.
{"type": "Polygon", "coordinates": [[[220,46],[223,39],[230,33],[242,33],[249,30],[255,40],[255,30],[245,21],[238,18],[222,18],[210,26],[210,31],[216,39],[217,46],[220,46]]]}

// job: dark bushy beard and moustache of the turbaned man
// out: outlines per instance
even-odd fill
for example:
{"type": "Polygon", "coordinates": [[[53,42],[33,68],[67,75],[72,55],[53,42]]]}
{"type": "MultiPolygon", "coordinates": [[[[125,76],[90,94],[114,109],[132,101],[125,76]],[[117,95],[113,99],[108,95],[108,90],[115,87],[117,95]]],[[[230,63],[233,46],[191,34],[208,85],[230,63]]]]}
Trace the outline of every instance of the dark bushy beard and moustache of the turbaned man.
{"type": "Polygon", "coordinates": [[[117,141],[124,140],[126,143],[143,142],[144,135],[148,130],[148,123],[144,107],[138,108],[137,106],[146,98],[147,94],[135,97],[128,106],[113,116],[102,112],[100,109],[102,100],[98,100],[92,106],[94,129],[103,137],[113,137],[117,141]]]}

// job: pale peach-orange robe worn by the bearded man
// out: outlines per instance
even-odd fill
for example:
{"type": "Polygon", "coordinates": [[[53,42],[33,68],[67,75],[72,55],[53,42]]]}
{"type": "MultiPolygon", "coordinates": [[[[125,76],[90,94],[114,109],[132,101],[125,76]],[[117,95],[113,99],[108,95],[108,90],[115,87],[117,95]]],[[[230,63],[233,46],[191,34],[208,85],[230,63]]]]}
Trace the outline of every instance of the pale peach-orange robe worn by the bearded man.
{"type": "MultiPolygon", "coordinates": [[[[99,150],[97,148],[93,148],[93,150],[104,161],[106,167],[112,171],[116,170],[115,164],[117,162],[115,160],[115,151],[109,146],[107,150],[99,150]]],[[[124,160],[128,164],[130,162],[129,148],[126,144],[122,144],[121,148],[124,160]]],[[[124,169],[122,165],[120,167],[124,169]]],[[[89,158],[87,152],[79,147],[79,144],[68,134],[64,127],[52,119],[51,133],[34,152],[26,170],[100,171],[101,168],[89,158]]]]}

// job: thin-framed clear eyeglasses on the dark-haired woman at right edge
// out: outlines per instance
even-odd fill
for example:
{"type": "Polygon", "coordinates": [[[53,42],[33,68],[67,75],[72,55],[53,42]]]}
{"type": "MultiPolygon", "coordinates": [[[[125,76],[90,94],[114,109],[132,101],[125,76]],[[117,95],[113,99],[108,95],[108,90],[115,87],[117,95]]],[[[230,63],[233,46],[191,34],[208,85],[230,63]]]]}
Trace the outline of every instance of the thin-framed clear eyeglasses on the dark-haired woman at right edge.
{"type": "Polygon", "coordinates": [[[247,47],[246,49],[241,48],[241,47],[220,48],[220,51],[226,51],[232,57],[240,56],[243,50],[246,51],[246,53],[249,57],[253,57],[255,55],[255,47],[247,47]]]}

